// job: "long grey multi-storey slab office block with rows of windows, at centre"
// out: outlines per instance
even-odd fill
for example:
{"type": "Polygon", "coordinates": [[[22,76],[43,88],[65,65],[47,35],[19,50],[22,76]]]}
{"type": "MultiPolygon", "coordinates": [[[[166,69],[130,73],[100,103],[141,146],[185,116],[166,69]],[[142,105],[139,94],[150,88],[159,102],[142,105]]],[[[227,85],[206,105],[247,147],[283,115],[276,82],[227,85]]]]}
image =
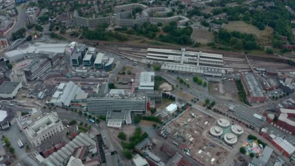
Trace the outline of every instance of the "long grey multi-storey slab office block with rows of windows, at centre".
{"type": "Polygon", "coordinates": [[[88,94],[87,111],[107,115],[108,111],[131,110],[131,114],[145,114],[149,99],[141,94],[88,94]]]}

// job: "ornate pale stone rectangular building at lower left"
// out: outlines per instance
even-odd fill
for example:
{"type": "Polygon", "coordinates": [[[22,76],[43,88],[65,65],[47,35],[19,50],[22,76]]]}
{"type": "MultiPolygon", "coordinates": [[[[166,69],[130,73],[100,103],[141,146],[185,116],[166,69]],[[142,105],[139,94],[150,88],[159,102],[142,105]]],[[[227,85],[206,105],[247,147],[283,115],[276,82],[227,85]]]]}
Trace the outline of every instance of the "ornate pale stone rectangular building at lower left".
{"type": "Polygon", "coordinates": [[[33,147],[38,147],[43,141],[63,130],[65,130],[65,127],[54,111],[22,128],[23,133],[33,147]]]}

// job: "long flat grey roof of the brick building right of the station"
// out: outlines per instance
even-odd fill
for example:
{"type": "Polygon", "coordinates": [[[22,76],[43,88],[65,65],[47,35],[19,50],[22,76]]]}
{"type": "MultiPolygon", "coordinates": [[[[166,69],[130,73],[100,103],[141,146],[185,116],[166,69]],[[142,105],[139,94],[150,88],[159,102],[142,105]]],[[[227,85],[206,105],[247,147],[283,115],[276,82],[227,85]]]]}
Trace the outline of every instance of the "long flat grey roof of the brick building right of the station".
{"type": "Polygon", "coordinates": [[[264,97],[261,84],[252,73],[243,74],[252,97],[264,97]]]}

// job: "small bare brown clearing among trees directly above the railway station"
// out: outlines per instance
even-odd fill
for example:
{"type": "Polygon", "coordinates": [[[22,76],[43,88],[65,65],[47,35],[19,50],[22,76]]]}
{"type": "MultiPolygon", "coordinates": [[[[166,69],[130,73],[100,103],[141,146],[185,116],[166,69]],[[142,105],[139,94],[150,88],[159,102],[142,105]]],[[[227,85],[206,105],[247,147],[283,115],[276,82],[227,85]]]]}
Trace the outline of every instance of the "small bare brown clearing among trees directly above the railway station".
{"type": "Polygon", "coordinates": [[[206,44],[214,41],[214,34],[208,30],[194,28],[191,38],[195,42],[206,44]]]}

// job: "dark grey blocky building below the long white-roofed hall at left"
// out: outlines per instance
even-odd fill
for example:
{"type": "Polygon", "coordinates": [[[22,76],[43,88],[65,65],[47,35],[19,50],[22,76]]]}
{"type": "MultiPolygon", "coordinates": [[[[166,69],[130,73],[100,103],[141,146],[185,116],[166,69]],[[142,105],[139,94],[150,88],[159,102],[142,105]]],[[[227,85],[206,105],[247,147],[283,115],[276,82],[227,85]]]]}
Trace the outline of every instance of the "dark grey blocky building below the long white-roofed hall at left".
{"type": "Polygon", "coordinates": [[[34,81],[43,73],[48,72],[50,67],[51,63],[48,59],[35,58],[29,65],[23,68],[23,71],[28,81],[34,81]]]}

